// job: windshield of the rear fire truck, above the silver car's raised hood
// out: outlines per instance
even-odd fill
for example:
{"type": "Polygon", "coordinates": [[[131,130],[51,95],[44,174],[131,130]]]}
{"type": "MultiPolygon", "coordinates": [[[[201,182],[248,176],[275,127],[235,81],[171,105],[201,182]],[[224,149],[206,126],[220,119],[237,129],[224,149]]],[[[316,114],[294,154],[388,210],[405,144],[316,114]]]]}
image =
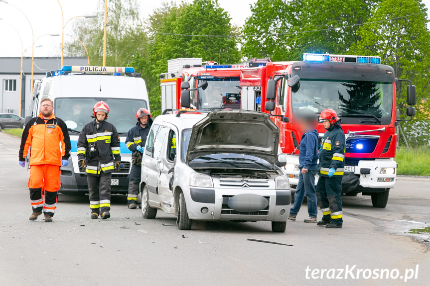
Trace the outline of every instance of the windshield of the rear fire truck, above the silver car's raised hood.
{"type": "Polygon", "coordinates": [[[239,77],[200,79],[199,83],[202,81],[208,86],[198,91],[199,109],[240,109],[239,77]]]}

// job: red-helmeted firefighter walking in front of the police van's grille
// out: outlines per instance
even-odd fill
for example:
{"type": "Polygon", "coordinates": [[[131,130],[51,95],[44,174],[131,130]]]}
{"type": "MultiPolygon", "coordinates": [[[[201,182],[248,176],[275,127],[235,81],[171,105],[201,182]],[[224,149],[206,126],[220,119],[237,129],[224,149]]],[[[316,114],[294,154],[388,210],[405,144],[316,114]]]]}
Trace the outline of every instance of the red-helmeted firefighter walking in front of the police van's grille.
{"type": "Polygon", "coordinates": [[[94,105],[93,121],[84,126],[78,139],[79,168],[85,169],[90,197],[91,218],[111,217],[112,172],[121,169],[120,136],[107,122],[109,106],[100,101],[94,105]]]}

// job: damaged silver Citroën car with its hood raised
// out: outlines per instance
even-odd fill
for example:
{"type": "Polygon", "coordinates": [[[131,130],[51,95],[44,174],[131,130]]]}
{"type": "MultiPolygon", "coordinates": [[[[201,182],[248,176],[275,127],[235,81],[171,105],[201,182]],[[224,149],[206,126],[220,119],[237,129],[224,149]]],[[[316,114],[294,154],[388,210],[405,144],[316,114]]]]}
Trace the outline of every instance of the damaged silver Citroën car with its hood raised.
{"type": "Polygon", "coordinates": [[[152,123],[142,159],[142,215],[193,220],[271,221],[284,232],[291,204],[276,166],[279,129],[258,111],[177,111],[152,123]]]}

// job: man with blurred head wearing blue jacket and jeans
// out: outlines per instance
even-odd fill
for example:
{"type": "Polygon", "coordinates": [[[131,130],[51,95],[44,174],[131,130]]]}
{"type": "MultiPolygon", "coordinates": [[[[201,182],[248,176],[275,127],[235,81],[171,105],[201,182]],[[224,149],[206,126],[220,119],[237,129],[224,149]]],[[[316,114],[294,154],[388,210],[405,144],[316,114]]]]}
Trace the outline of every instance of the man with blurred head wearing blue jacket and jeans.
{"type": "Polygon", "coordinates": [[[310,109],[300,109],[294,114],[294,125],[303,133],[298,149],[298,184],[295,188],[294,204],[289,211],[288,219],[294,221],[300,210],[303,198],[307,198],[308,218],[304,222],[316,222],[317,203],[315,194],[315,175],[318,167],[318,124],[316,113],[310,109]]]}

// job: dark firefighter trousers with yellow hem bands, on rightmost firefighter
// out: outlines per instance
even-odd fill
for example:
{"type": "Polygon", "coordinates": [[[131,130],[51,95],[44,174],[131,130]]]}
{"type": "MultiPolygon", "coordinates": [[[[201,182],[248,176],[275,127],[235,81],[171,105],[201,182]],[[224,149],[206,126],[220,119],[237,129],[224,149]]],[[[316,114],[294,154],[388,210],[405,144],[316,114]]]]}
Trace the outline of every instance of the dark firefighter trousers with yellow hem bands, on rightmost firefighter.
{"type": "Polygon", "coordinates": [[[341,190],[342,176],[331,178],[319,176],[316,184],[316,197],[323,214],[323,220],[331,220],[336,224],[343,223],[341,190]]]}

